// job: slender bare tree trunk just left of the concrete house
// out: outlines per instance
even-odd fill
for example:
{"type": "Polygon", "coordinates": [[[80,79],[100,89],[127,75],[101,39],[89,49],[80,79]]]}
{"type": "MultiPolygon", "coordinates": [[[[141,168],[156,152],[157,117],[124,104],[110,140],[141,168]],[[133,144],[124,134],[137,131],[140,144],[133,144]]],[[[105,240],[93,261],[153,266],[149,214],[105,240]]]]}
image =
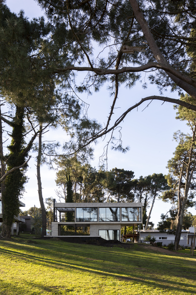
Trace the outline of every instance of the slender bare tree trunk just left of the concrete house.
{"type": "Polygon", "coordinates": [[[47,220],[46,220],[46,209],[43,202],[42,187],[41,187],[41,174],[40,174],[40,164],[41,164],[41,151],[42,151],[42,125],[39,126],[39,145],[38,145],[38,155],[37,155],[37,185],[38,185],[38,195],[41,206],[41,217],[42,217],[42,231],[41,236],[46,236],[47,220]]]}

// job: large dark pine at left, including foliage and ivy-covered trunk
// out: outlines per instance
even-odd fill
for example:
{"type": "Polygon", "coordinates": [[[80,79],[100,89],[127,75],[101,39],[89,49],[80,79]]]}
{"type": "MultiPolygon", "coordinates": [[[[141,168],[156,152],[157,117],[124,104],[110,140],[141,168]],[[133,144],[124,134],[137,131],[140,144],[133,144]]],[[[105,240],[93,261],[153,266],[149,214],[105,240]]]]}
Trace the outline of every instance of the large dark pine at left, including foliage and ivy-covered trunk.
{"type": "MultiPolygon", "coordinates": [[[[59,52],[59,44],[54,44],[54,40],[48,38],[52,35],[54,27],[45,23],[43,18],[29,21],[24,17],[24,12],[17,17],[6,5],[1,8],[0,89],[1,96],[12,107],[10,116],[1,117],[12,128],[11,144],[7,147],[10,153],[2,160],[7,164],[6,168],[9,171],[27,160],[36,139],[34,127],[37,122],[56,127],[56,121],[63,114],[61,119],[66,121],[68,129],[69,122],[78,119],[80,105],[72,96],[62,94],[62,90],[65,92],[65,83],[64,87],[62,83],[59,86],[60,80],[56,74],[42,67],[42,63],[46,65],[49,61],[57,62],[58,66],[60,60],[63,65],[66,61],[66,56],[59,52]],[[24,123],[25,115],[28,124],[24,123]],[[26,144],[24,137],[30,130],[35,134],[26,144]]],[[[19,197],[22,196],[27,181],[26,168],[27,165],[10,173],[4,181],[2,232],[5,237],[9,237],[14,215],[19,213],[19,197]]]]}

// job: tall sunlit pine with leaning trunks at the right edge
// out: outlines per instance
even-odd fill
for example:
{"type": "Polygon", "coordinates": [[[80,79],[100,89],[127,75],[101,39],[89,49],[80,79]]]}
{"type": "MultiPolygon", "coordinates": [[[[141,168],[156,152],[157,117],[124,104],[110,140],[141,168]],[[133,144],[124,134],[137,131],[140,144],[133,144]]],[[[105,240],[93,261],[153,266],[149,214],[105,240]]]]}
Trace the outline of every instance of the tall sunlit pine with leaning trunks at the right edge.
{"type": "MultiPolygon", "coordinates": [[[[195,100],[188,95],[180,97],[182,101],[195,100]]],[[[196,119],[195,112],[186,109],[183,106],[175,106],[177,108],[177,119],[187,121],[190,127],[190,133],[186,135],[180,130],[174,133],[174,139],[178,142],[175,149],[174,157],[168,161],[167,168],[169,174],[166,176],[167,183],[170,186],[161,196],[163,201],[170,201],[174,210],[171,215],[170,233],[175,233],[175,250],[180,242],[180,233],[183,228],[191,224],[190,216],[186,215],[189,207],[195,206],[195,179],[196,179],[196,119]],[[176,215],[176,216],[175,216],[176,215]],[[175,222],[174,222],[175,221],[175,222]]]]}

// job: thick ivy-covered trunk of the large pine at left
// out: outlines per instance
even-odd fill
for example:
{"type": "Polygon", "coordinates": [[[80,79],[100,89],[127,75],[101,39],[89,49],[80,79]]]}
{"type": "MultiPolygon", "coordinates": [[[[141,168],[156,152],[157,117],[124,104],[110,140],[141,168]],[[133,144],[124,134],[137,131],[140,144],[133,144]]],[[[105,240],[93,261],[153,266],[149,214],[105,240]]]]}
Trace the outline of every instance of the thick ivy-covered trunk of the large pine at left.
{"type": "MultiPolygon", "coordinates": [[[[23,155],[24,146],[24,108],[16,106],[16,114],[12,123],[12,140],[8,146],[10,154],[7,160],[7,170],[22,165],[25,162],[25,155],[23,155]]],[[[28,154],[28,151],[27,153],[28,154]]],[[[26,165],[27,167],[27,165],[26,165]]],[[[1,237],[10,238],[11,225],[14,221],[14,216],[19,214],[19,197],[24,190],[24,183],[26,176],[24,175],[26,167],[17,169],[10,173],[4,180],[4,191],[1,192],[3,201],[3,224],[1,237]]]]}

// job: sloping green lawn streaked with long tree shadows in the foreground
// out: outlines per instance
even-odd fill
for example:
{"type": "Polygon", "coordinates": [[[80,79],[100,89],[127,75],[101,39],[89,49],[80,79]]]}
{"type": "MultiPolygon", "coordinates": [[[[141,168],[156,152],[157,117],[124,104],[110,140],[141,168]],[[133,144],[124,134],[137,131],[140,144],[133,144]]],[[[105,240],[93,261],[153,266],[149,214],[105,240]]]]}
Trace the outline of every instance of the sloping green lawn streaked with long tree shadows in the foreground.
{"type": "Polygon", "coordinates": [[[196,256],[187,250],[186,257],[155,251],[25,235],[0,240],[0,294],[196,294],[196,256]]]}

